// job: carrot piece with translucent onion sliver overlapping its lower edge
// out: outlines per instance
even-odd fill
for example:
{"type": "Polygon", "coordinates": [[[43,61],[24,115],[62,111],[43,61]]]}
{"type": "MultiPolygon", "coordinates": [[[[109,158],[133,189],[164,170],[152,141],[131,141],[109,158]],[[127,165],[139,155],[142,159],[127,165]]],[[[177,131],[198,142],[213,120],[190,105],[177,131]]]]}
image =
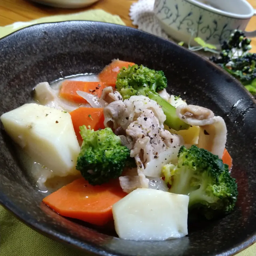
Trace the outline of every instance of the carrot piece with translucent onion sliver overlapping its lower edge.
{"type": "Polygon", "coordinates": [[[86,104],[87,101],[77,94],[77,91],[85,91],[93,95],[101,97],[103,90],[103,84],[101,82],[83,82],[83,81],[72,81],[65,80],[61,84],[61,90],[59,96],[67,101],[86,104]]]}

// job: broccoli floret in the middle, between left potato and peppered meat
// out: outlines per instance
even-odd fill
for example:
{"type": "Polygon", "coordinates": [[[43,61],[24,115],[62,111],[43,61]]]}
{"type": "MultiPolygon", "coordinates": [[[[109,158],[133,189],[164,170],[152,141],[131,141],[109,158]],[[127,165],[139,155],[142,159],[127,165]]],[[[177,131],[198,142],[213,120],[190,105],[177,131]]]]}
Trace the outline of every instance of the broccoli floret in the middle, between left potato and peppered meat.
{"type": "Polygon", "coordinates": [[[94,131],[80,126],[83,138],[77,158],[77,170],[91,185],[101,185],[121,175],[130,150],[110,128],[94,131]]]}

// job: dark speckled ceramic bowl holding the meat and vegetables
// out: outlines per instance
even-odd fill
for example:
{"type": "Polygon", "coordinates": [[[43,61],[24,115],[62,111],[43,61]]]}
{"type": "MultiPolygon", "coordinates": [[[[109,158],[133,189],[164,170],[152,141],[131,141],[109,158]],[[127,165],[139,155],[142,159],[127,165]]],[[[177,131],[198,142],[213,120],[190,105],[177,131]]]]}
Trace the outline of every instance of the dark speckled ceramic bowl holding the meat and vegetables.
{"type": "Polygon", "coordinates": [[[107,23],[72,21],[31,26],[0,40],[0,114],[29,101],[39,82],[98,73],[114,58],[163,70],[170,92],[225,119],[227,148],[234,159],[232,176],[239,190],[235,211],[215,221],[190,223],[189,235],[182,239],[135,242],[113,237],[63,218],[43,205],[43,194],[20,167],[3,129],[0,203],[40,233],[99,255],[226,256],[254,243],[255,101],[229,74],[198,55],[139,30],[107,23]]]}

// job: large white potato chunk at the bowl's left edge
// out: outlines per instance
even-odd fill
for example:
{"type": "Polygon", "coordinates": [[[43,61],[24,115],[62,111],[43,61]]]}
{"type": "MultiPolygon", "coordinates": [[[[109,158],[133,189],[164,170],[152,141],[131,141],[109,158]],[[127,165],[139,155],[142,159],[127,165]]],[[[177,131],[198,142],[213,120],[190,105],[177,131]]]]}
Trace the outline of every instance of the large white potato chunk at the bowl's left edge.
{"type": "Polygon", "coordinates": [[[66,111],[35,103],[25,104],[0,117],[6,132],[35,162],[54,176],[76,175],[80,147],[66,111]]]}

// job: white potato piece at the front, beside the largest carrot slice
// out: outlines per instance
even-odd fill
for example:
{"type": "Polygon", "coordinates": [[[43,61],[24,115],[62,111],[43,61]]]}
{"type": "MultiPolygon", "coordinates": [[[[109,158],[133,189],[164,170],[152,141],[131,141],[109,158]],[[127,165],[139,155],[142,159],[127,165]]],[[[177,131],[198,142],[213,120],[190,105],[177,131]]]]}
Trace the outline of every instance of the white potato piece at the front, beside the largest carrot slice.
{"type": "Polygon", "coordinates": [[[189,196],[138,188],[113,205],[115,230],[120,238],[162,241],[187,232],[189,196]]]}

